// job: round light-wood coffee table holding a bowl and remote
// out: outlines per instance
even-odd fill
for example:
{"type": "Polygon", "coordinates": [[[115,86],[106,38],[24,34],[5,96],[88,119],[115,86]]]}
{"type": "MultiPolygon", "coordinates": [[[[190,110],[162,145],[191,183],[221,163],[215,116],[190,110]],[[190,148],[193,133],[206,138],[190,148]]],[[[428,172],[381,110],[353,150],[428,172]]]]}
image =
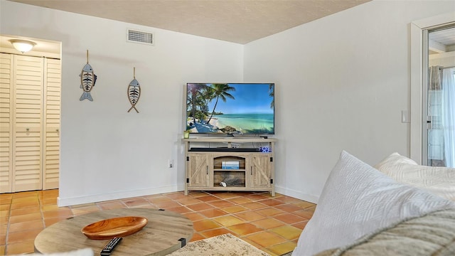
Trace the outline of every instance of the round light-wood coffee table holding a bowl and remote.
{"type": "Polygon", "coordinates": [[[77,215],[45,228],[35,238],[35,252],[68,252],[86,247],[95,255],[109,240],[92,240],[82,234],[85,225],[107,218],[138,216],[149,220],[137,233],[123,238],[112,252],[112,256],[167,255],[182,247],[181,238],[189,242],[193,237],[193,223],[185,216],[168,210],[149,208],[127,208],[102,210],[77,215]]]}

